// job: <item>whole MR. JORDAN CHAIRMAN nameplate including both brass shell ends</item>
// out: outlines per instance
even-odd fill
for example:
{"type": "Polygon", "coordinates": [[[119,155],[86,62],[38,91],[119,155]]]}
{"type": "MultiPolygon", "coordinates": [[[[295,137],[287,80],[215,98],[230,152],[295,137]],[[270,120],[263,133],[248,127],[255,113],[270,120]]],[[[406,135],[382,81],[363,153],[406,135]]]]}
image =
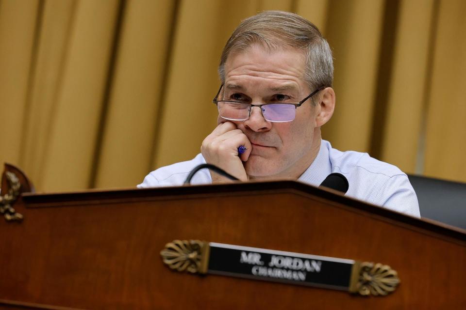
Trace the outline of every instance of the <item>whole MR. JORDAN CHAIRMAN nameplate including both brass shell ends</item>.
{"type": "Polygon", "coordinates": [[[388,265],[199,240],[174,240],[160,253],[171,269],[386,295],[399,284],[388,265]]]}

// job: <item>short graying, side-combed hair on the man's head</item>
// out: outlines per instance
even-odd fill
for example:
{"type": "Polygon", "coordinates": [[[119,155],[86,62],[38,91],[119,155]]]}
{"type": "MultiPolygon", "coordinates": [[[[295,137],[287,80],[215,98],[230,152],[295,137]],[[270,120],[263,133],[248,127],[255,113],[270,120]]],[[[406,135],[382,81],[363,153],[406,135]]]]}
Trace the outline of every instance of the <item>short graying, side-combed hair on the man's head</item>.
{"type": "Polygon", "coordinates": [[[243,20],[223,48],[218,75],[225,83],[225,62],[231,53],[260,44],[273,51],[292,47],[302,49],[306,56],[304,80],[311,90],[333,84],[333,57],[327,40],[317,27],[305,18],[290,12],[264,11],[243,20]]]}

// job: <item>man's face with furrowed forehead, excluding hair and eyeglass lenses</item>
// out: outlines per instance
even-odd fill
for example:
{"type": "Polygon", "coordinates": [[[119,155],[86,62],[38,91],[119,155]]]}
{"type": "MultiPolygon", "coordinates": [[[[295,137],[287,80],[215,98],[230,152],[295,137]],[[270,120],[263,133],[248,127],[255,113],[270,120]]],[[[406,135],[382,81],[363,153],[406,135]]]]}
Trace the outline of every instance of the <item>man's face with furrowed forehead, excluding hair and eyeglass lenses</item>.
{"type": "MultiPolygon", "coordinates": [[[[304,67],[304,53],[298,49],[268,52],[256,45],[231,54],[225,63],[223,100],[248,99],[251,104],[297,103],[314,91],[303,79],[304,67]]],[[[267,122],[259,108],[252,108],[248,120],[233,122],[252,143],[251,154],[245,162],[250,178],[299,177],[320,148],[320,130],[316,128],[318,110],[308,99],[296,109],[292,122],[267,122]]],[[[219,116],[217,123],[224,122],[219,116]]]]}

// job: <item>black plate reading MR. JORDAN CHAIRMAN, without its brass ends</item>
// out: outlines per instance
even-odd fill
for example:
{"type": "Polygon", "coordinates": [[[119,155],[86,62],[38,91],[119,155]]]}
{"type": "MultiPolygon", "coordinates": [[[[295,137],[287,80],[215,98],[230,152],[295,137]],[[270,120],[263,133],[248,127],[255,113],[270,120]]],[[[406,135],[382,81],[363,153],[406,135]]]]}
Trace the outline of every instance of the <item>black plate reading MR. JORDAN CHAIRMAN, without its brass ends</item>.
{"type": "Polygon", "coordinates": [[[207,272],[348,290],[353,260],[209,243],[207,272]]]}

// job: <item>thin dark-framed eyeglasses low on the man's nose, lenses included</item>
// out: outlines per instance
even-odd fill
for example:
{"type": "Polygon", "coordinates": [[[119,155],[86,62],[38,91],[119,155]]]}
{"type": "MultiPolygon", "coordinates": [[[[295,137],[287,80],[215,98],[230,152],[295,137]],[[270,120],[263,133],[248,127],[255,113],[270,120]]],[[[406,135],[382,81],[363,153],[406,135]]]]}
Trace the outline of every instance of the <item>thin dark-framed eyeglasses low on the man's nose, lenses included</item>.
{"type": "Polygon", "coordinates": [[[264,119],[268,122],[284,123],[291,122],[295,119],[296,109],[300,107],[307,99],[314,96],[319,91],[323,90],[325,86],[320,86],[309,96],[302,99],[299,103],[277,102],[277,103],[263,103],[259,105],[251,105],[250,103],[241,101],[230,100],[217,100],[223,84],[220,85],[213,102],[218,108],[218,114],[229,121],[246,121],[249,119],[253,107],[258,107],[262,111],[264,119]]]}

